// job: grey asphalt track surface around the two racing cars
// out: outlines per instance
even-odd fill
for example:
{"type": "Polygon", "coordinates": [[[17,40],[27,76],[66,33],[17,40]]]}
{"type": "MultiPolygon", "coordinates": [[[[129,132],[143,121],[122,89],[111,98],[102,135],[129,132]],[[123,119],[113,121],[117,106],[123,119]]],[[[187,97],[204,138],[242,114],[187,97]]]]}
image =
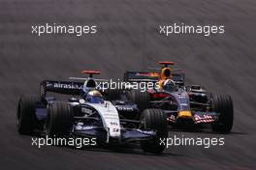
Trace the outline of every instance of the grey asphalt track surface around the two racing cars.
{"type": "Polygon", "coordinates": [[[1,0],[0,169],[256,169],[256,2],[253,0],[1,0]],[[96,24],[93,36],[31,35],[31,25],[96,24]],[[224,24],[225,34],[160,36],[159,24],[224,24]],[[163,156],[137,149],[74,150],[31,146],[16,132],[21,94],[43,79],[102,71],[119,78],[160,60],[186,70],[187,84],[230,94],[235,123],[227,135],[171,131],[170,136],[225,137],[222,147],[171,147],[163,156]]]}

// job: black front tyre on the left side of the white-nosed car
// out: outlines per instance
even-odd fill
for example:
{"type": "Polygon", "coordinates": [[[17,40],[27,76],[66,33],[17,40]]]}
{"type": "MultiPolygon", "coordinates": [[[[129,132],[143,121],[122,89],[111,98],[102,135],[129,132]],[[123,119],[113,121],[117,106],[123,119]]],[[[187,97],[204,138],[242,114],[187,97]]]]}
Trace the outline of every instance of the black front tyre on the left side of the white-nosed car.
{"type": "Polygon", "coordinates": [[[65,136],[68,135],[74,119],[72,106],[67,102],[56,101],[48,104],[48,116],[45,130],[48,136],[65,136]]]}

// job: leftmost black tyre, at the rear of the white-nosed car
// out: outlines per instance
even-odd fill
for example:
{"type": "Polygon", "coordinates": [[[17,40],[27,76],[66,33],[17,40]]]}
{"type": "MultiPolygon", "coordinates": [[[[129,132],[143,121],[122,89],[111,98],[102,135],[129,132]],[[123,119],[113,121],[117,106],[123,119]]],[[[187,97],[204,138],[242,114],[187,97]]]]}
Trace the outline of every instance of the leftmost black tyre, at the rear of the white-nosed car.
{"type": "Polygon", "coordinates": [[[16,111],[16,127],[20,134],[32,134],[38,127],[39,121],[36,117],[36,105],[41,102],[39,96],[24,95],[18,100],[16,111]]]}

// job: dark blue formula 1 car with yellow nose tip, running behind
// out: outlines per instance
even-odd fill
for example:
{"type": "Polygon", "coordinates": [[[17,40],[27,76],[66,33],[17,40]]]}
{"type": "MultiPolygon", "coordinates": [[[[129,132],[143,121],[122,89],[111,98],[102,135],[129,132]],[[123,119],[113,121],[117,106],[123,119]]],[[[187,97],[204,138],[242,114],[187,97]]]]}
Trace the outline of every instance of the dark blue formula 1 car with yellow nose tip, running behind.
{"type": "MultiPolygon", "coordinates": [[[[208,93],[200,85],[185,86],[184,73],[168,66],[173,62],[159,62],[163,65],[155,71],[127,71],[126,82],[154,82],[146,92],[130,90],[127,98],[142,110],[145,107],[162,109],[169,124],[176,128],[209,124],[213,131],[230,132],[233,127],[233,101],[228,95],[208,93]]],[[[199,126],[200,127],[200,126],[199,126]]]]}

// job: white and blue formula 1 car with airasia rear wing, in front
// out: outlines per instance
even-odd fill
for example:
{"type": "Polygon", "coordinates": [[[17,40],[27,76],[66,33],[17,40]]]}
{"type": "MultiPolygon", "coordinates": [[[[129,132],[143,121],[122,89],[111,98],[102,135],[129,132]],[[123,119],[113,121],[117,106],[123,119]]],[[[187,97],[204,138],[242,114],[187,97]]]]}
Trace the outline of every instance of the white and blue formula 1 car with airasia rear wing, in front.
{"type": "Polygon", "coordinates": [[[85,82],[49,81],[41,83],[39,96],[24,95],[17,106],[17,130],[20,134],[41,131],[51,137],[95,137],[104,143],[123,144],[140,141],[144,152],[161,154],[165,146],[160,138],[168,137],[167,117],[161,109],[144,109],[140,120],[123,114],[138,112],[131,101],[113,105],[96,89],[93,74],[85,82]],[[66,101],[48,97],[48,92],[72,95],[66,101]],[[76,98],[75,98],[76,97],[76,98]],[[124,112],[124,113],[123,113],[124,112]]]}

